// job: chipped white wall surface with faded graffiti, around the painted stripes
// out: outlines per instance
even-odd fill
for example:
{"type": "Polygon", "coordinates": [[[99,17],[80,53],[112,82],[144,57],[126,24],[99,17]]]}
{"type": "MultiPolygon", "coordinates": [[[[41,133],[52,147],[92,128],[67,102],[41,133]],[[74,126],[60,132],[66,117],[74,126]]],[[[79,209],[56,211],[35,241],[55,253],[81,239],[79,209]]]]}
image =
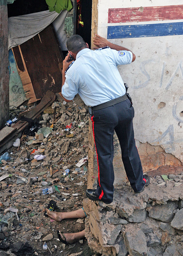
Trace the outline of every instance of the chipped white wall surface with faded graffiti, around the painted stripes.
{"type": "MultiPolygon", "coordinates": [[[[98,0],[98,34],[107,38],[107,26],[159,23],[108,24],[109,8],[181,5],[182,0],[98,0]]],[[[183,20],[161,21],[183,22],[183,20]]],[[[183,24],[183,23],[182,23],[183,24]]],[[[135,109],[134,132],[138,141],[161,145],[183,162],[183,35],[109,39],[136,55],[130,65],[119,66],[129,85],[135,109]],[[160,102],[166,103],[158,108],[160,102]]]]}

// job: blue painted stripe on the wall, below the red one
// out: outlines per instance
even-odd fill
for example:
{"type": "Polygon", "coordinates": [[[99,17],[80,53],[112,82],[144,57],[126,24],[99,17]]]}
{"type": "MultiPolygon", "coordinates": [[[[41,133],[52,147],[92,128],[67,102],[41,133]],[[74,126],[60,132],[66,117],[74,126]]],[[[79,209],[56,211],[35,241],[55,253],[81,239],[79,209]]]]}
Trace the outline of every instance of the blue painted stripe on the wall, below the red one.
{"type": "Polygon", "coordinates": [[[173,35],[183,35],[183,22],[107,27],[107,39],[173,35]]]}

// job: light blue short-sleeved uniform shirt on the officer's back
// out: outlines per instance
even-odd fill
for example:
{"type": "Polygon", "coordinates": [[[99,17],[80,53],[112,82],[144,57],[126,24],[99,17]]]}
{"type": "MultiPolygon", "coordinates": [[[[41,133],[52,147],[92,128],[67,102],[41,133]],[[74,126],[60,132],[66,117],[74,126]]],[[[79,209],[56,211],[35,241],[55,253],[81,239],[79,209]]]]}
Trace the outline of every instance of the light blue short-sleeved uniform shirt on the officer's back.
{"type": "Polygon", "coordinates": [[[110,48],[80,50],[67,70],[62,95],[72,100],[78,93],[85,104],[92,107],[123,96],[126,89],[117,65],[130,64],[132,57],[130,51],[110,48]]]}

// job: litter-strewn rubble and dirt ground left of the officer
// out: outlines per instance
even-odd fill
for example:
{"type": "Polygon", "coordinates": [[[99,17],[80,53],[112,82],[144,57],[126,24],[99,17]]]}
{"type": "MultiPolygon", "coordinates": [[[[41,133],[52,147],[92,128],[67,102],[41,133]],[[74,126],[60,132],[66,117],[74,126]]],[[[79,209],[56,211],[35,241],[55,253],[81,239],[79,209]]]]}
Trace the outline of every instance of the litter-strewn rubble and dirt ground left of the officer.
{"type": "Polygon", "coordinates": [[[14,145],[0,161],[0,255],[90,255],[86,240],[69,248],[57,241],[58,229],[82,231],[83,221],[57,223],[44,216],[50,200],[60,212],[82,207],[88,114],[80,97],[53,102],[14,145]],[[44,241],[51,253],[43,250],[44,241]]]}

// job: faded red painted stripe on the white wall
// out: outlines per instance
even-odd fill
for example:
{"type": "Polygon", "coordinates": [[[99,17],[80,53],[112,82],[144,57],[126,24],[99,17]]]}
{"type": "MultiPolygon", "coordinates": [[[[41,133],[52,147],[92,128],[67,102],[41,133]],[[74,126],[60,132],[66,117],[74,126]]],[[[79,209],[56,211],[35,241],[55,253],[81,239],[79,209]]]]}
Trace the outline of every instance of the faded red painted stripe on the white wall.
{"type": "Polygon", "coordinates": [[[183,19],[183,5],[109,9],[108,23],[183,19]]]}

